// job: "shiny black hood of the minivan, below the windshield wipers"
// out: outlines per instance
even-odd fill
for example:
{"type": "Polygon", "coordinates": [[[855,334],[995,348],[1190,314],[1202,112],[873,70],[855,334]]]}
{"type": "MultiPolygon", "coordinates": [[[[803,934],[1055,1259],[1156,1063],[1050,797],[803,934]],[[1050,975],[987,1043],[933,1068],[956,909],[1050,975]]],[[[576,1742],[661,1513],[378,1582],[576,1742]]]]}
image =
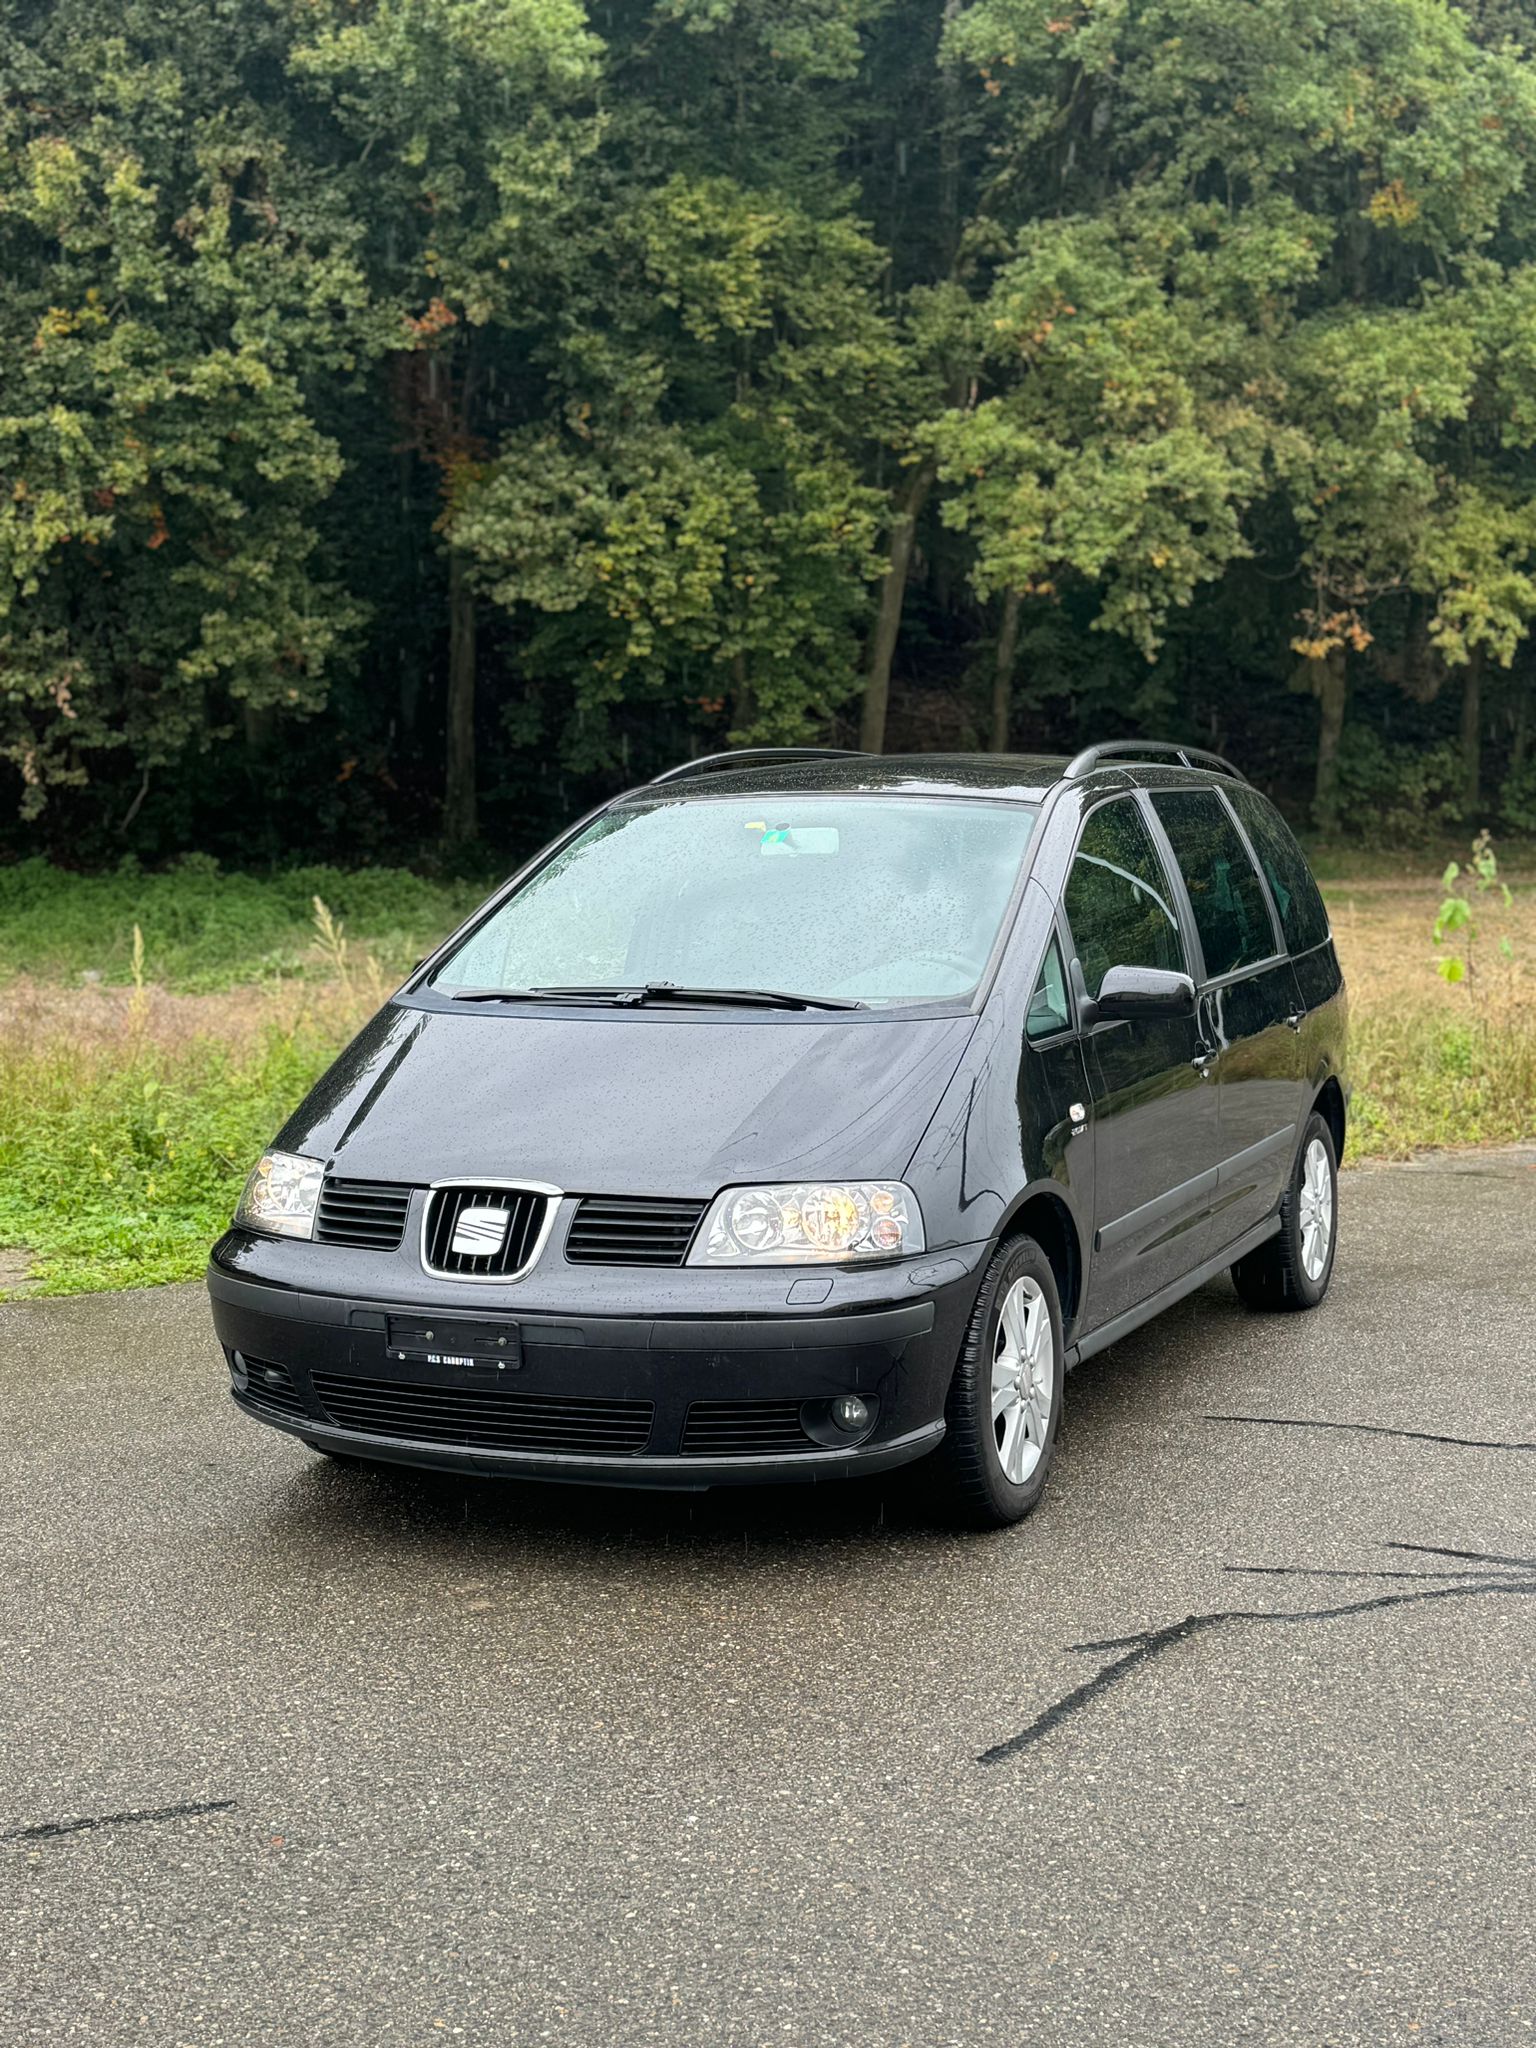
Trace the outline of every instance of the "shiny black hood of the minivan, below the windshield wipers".
{"type": "Polygon", "coordinates": [[[973,1016],[811,1018],[387,1004],[276,1143],[354,1180],[696,1194],[899,1178],[973,1016]]]}

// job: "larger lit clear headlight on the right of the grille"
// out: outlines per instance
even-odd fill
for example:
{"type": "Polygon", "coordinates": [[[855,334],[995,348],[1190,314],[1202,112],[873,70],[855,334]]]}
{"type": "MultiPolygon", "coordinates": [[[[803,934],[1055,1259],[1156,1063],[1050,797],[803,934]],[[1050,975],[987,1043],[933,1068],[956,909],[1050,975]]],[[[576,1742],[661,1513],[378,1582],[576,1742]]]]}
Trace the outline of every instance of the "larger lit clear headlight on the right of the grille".
{"type": "Polygon", "coordinates": [[[715,1196],[690,1266],[819,1266],[924,1249],[924,1219],[899,1180],[774,1182],[715,1196]]]}

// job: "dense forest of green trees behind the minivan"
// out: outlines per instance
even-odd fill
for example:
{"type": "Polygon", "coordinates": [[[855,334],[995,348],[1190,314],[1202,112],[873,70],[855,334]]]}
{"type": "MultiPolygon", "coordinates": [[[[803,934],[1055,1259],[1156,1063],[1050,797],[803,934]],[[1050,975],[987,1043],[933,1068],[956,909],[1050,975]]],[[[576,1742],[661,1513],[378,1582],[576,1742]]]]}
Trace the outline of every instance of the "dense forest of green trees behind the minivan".
{"type": "Polygon", "coordinates": [[[737,741],[1536,829],[1528,0],[0,0],[0,852],[737,741]]]}

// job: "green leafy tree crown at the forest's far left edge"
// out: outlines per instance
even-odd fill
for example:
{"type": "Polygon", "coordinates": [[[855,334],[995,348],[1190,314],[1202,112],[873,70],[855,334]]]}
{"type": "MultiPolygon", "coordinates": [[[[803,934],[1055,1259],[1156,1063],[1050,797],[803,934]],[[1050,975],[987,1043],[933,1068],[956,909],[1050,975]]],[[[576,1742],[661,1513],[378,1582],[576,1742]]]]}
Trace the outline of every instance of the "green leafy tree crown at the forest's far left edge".
{"type": "Polygon", "coordinates": [[[369,346],[358,223],[246,88],[248,6],[8,8],[0,55],[0,758],[37,815],[123,748],[315,711],[362,621],[315,559],[307,383],[369,346]]]}

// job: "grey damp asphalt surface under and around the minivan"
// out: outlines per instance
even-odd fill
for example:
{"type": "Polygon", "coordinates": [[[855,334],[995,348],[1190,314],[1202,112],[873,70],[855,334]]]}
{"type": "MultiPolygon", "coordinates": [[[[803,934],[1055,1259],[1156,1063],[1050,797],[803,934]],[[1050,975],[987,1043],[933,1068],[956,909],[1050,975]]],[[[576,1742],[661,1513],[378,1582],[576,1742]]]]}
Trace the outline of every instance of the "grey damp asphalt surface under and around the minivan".
{"type": "Polygon", "coordinates": [[[995,1538],[348,1473],[195,1288],[0,1309],[0,2040],[1536,2038],[1534,1380],[1536,1151],[1350,1174],[995,1538]]]}

